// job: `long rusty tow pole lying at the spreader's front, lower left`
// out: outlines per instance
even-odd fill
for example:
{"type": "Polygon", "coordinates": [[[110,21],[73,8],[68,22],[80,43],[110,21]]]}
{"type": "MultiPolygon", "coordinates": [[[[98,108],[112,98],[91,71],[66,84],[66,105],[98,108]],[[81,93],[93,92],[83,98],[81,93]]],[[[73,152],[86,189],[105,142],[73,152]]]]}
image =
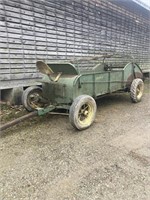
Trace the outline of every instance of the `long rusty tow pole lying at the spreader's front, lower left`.
{"type": "Polygon", "coordinates": [[[22,122],[25,119],[29,119],[31,117],[37,116],[37,113],[38,113],[37,111],[34,111],[32,113],[29,113],[27,115],[24,115],[22,117],[19,117],[18,119],[14,119],[13,121],[8,122],[8,123],[2,125],[0,127],[0,132],[6,130],[7,128],[10,128],[10,127],[12,127],[12,126],[14,126],[16,124],[19,124],[20,122],[22,122]]]}

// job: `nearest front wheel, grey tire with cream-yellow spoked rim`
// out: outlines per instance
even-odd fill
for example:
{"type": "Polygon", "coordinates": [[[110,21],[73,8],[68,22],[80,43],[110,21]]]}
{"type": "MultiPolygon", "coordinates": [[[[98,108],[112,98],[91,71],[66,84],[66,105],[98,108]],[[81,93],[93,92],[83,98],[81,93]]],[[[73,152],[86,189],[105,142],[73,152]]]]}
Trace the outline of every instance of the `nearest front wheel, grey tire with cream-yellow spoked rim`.
{"type": "Polygon", "coordinates": [[[70,107],[69,119],[73,127],[83,130],[91,126],[96,116],[96,102],[88,95],[77,97],[70,107]]]}

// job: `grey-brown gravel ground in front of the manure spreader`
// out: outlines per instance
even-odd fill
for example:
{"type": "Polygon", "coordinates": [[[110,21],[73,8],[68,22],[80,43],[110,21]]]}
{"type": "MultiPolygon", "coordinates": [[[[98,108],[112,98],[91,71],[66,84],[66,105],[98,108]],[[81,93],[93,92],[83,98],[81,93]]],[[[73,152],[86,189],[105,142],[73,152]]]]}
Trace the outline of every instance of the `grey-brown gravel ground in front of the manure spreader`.
{"type": "MultiPolygon", "coordinates": [[[[113,94],[97,106],[84,131],[48,114],[1,133],[0,199],[150,200],[150,83],[138,104],[113,94]]],[[[4,107],[2,123],[25,113],[4,107]]]]}

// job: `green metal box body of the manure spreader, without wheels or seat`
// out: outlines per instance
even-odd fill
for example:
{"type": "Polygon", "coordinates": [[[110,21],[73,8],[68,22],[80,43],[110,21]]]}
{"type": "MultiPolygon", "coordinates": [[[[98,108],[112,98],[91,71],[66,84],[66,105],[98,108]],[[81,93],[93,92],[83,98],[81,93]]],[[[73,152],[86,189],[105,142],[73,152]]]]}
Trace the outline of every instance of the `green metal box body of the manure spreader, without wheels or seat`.
{"type": "Polygon", "coordinates": [[[72,63],[48,63],[52,70],[51,77],[44,75],[41,80],[43,97],[50,106],[39,109],[39,115],[52,111],[54,108],[69,109],[74,99],[86,94],[95,99],[116,91],[129,91],[134,78],[143,78],[140,67],[134,62],[125,65],[118,62],[100,61],[92,70],[76,69],[72,63]],[[107,66],[106,66],[107,65],[107,66]],[[60,77],[57,81],[57,74],[60,77]]]}

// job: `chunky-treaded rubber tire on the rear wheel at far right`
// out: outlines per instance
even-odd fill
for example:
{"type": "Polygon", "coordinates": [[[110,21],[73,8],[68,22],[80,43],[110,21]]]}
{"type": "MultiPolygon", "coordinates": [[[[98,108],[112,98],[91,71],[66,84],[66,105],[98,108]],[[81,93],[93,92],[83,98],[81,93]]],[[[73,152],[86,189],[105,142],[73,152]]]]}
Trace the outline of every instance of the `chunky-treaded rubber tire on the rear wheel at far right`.
{"type": "Polygon", "coordinates": [[[133,103],[138,103],[141,101],[144,91],[144,82],[140,78],[136,78],[132,81],[130,87],[130,98],[133,103]],[[137,89],[140,89],[140,94],[137,94],[137,89]]]}

